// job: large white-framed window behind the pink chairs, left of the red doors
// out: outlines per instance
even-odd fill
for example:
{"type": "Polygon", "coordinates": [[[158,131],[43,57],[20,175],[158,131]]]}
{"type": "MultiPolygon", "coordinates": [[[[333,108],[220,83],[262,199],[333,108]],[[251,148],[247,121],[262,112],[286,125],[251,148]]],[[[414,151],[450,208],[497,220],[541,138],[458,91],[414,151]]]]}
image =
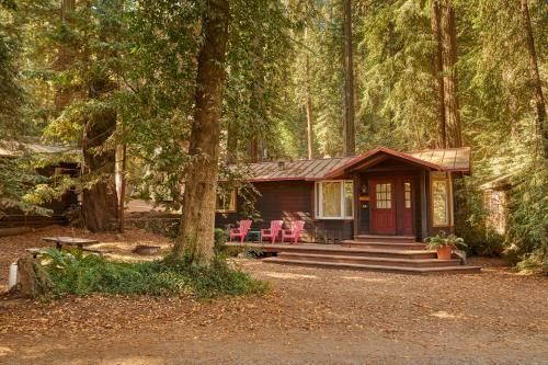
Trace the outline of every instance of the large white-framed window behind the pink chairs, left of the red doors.
{"type": "Polygon", "coordinates": [[[322,181],[316,183],[316,217],[345,219],[354,215],[354,183],[322,181]]]}

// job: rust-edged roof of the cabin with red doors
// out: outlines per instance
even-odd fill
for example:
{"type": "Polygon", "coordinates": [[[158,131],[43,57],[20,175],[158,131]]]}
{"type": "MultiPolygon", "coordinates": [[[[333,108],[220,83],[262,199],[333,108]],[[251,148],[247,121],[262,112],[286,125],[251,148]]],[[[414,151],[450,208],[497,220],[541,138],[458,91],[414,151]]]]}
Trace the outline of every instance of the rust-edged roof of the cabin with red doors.
{"type": "Polygon", "coordinates": [[[364,162],[379,153],[423,166],[437,171],[470,171],[470,148],[433,149],[414,152],[398,152],[379,147],[366,153],[354,157],[333,157],[313,160],[258,162],[246,164],[249,181],[283,181],[283,180],[326,180],[334,179],[345,170],[364,162]]]}

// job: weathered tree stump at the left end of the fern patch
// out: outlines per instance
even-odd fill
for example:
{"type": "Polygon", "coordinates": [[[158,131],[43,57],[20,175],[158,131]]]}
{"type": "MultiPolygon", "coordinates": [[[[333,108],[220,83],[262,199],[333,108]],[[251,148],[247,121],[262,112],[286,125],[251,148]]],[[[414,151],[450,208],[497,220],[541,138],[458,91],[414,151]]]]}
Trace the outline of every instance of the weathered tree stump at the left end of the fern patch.
{"type": "Polygon", "coordinates": [[[13,292],[23,297],[34,298],[49,292],[53,287],[44,266],[37,259],[25,256],[18,261],[18,285],[13,292]]]}

